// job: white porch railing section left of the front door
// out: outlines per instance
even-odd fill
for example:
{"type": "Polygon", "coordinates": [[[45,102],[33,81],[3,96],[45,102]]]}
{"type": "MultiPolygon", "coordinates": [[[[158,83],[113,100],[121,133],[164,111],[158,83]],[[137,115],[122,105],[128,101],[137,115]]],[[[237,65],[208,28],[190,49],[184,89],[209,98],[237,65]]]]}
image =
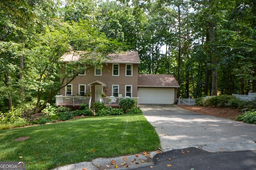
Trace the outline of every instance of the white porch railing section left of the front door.
{"type": "Polygon", "coordinates": [[[91,106],[91,97],[84,96],[55,96],[56,97],[56,106],[80,106],[80,104],[88,103],[89,107],[91,106]]]}

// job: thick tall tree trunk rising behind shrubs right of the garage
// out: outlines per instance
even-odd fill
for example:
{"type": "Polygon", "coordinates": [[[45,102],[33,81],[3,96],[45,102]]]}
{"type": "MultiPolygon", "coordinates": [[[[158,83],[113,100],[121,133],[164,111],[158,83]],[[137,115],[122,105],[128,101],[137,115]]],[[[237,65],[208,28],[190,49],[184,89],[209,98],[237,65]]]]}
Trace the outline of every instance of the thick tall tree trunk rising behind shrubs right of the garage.
{"type": "Polygon", "coordinates": [[[217,60],[217,57],[216,57],[216,48],[214,47],[215,34],[214,34],[214,23],[212,23],[212,22],[209,23],[209,34],[210,34],[210,41],[212,43],[212,47],[210,47],[211,48],[211,53],[212,53],[212,66],[213,66],[213,70],[212,70],[212,96],[217,96],[217,94],[218,94],[218,75],[217,75],[218,60],[217,60]]]}

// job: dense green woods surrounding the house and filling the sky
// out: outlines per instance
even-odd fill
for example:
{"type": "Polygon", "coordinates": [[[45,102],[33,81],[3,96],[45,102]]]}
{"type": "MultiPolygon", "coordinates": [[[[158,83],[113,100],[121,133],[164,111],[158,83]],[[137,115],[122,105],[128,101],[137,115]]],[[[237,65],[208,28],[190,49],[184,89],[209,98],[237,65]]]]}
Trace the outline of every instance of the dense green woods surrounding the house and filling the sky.
{"type": "Polygon", "coordinates": [[[71,50],[138,51],[139,72],[174,74],[180,97],[256,92],[255,0],[1,0],[0,28],[0,111],[52,102],[71,50]]]}

